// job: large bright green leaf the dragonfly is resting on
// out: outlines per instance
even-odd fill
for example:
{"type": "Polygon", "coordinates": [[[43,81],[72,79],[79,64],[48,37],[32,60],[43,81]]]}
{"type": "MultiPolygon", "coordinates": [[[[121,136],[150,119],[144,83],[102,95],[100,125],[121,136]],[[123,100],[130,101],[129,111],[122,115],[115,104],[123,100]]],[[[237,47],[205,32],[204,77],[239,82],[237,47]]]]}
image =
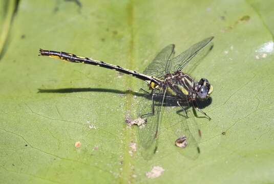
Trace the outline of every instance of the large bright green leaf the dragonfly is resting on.
{"type": "MultiPolygon", "coordinates": [[[[1,180],[274,182],[271,7],[265,1],[20,1],[9,44],[1,43],[1,180]],[[179,54],[209,36],[214,48],[192,72],[214,86],[203,108],[212,120],[188,112],[189,128],[194,132],[195,122],[202,132],[196,159],[174,149],[168,121],[158,152],[143,158],[138,127],[125,124],[137,109],[138,79],[37,56],[39,48],[66,51],[141,72],[166,45],[176,44],[179,54]],[[154,179],[147,173],[153,167],[162,171],[154,179]]],[[[2,34],[8,11],[0,11],[2,34]]]]}

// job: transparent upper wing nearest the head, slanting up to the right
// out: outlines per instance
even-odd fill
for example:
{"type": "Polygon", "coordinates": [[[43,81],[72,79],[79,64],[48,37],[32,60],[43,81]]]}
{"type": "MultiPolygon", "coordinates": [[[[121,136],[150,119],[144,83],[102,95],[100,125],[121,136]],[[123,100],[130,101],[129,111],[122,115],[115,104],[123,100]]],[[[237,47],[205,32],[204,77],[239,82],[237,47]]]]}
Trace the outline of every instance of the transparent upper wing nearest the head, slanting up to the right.
{"type": "MultiPolygon", "coordinates": [[[[171,59],[171,63],[169,64],[171,67],[171,71],[177,72],[181,71],[188,63],[189,61],[193,60],[194,58],[199,60],[201,57],[203,57],[203,54],[199,54],[200,57],[196,57],[198,53],[203,50],[203,48],[212,41],[214,37],[206,38],[190,47],[183,53],[179,54],[178,56],[171,59]]],[[[209,48],[210,50],[211,48],[209,48]]]]}

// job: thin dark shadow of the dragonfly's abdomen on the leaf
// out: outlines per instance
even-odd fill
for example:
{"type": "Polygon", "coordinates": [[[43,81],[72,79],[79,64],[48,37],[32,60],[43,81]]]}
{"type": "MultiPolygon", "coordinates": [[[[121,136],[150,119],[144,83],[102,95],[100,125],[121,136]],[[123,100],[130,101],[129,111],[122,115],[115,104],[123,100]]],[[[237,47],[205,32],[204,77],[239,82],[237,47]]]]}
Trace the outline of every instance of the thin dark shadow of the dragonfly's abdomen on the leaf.
{"type": "Polygon", "coordinates": [[[107,89],[107,88],[59,88],[59,89],[38,89],[37,93],[78,93],[78,92],[102,92],[102,93],[114,93],[114,94],[132,94],[135,96],[143,96],[143,93],[137,93],[132,90],[117,90],[117,89],[107,89]]]}

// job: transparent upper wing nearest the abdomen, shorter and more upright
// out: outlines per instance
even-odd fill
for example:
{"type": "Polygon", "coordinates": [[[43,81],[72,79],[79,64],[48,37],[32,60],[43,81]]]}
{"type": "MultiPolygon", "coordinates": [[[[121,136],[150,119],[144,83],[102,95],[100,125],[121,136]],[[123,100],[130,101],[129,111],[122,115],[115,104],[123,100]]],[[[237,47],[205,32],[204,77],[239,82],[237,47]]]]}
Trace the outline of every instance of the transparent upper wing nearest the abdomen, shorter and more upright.
{"type": "MultiPolygon", "coordinates": [[[[174,44],[167,45],[161,52],[157,54],[157,56],[153,59],[153,61],[145,68],[143,74],[154,76],[157,78],[163,78],[166,68],[170,68],[166,66],[174,54],[174,44]]],[[[169,72],[169,71],[168,71],[169,72]]]]}

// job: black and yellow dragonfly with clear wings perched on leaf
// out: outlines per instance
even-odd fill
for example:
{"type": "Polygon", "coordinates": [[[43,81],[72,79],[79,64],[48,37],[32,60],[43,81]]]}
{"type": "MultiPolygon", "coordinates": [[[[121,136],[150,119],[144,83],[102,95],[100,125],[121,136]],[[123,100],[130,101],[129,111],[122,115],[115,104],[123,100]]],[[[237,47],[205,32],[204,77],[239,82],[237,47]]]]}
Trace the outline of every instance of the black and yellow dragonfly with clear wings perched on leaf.
{"type": "MultiPolygon", "coordinates": [[[[198,56],[213,38],[214,37],[208,37],[192,45],[176,57],[174,57],[175,44],[167,45],[156,55],[142,73],[129,70],[119,65],[113,65],[61,51],[40,49],[39,56],[49,56],[69,62],[97,65],[145,81],[148,89],[140,89],[143,95],[141,96],[142,100],[140,100],[137,111],[138,117],[141,120],[145,120],[146,124],[146,127],[139,131],[141,146],[147,153],[147,157],[150,157],[156,153],[158,148],[160,124],[163,119],[165,107],[180,108],[180,111],[185,114],[184,118],[188,119],[188,113],[185,108],[192,105],[195,110],[198,110],[210,120],[210,117],[198,107],[197,100],[203,101],[208,99],[213,91],[213,85],[210,84],[206,78],[195,81],[194,78],[182,70],[189,62],[198,56]]],[[[179,117],[179,119],[180,118],[181,117],[179,117]]],[[[179,137],[175,140],[175,146],[179,148],[187,147],[188,143],[194,140],[192,134],[189,132],[188,126],[183,121],[182,127],[186,135],[180,131],[179,137]]],[[[198,146],[197,150],[199,152],[198,146]]]]}

